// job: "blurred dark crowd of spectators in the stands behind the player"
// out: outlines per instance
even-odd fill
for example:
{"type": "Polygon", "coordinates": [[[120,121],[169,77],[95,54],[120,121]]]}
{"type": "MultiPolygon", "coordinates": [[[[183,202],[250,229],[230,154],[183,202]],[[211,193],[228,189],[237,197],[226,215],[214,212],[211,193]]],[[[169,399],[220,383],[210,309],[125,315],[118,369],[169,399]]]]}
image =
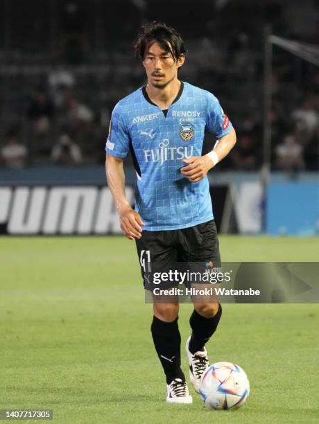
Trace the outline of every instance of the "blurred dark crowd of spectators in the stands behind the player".
{"type": "MultiPolygon", "coordinates": [[[[24,76],[21,89],[17,88],[11,98],[12,113],[8,116],[3,100],[0,166],[17,169],[48,164],[103,164],[112,108],[117,100],[143,85],[145,78],[130,48],[134,37],[132,28],[136,31],[139,21],[149,19],[147,5],[142,0],[128,3],[137,10],[139,19],[133,26],[128,17],[130,25],[123,27],[121,40],[107,45],[101,43],[94,55],[89,54],[83,10],[80,12],[76,1],[65,3],[59,53],[45,66],[37,62],[36,78],[24,76]]],[[[225,3],[226,8],[232,6],[227,4],[231,2],[220,3],[225,3]]],[[[299,33],[289,33],[279,19],[285,11],[283,3],[279,0],[269,3],[266,18],[272,22],[273,30],[284,32],[284,36],[301,37],[302,29],[299,33]]],[[[236,21],[236,7],[232,7],[234,10],[228,10],[230,24],[236,21]]],[[[264,33],[260,22],[266,18],[259,17],[255,24],[243,21],[227,35],[219,31],[220,18],[221,10],[213,10],[212,16],[207,14],[200,38],[185,28],[183,31],[181,22],[171,22],[181,30],[189,47],[187,64],[180,78],[212,91],[236,128],[236,148],[219,168],[259,170],[264,160],[264,33]]],[[[318,43],[318,40],[318,30],[314,35],[307,35],[307,41],[318,43]]],[[[38,61],[41,49],[37,53],[35,60],[38,61]]],[[[14,59],[11,58],[11,62],[14,59]]],[[[268,118],[272,168],[318,170],[318,67],[277,48],[271,90],[272,107],[268,118]]],[[[212,143],[207,137],[205,148],[209,150],[212,143]]]]}

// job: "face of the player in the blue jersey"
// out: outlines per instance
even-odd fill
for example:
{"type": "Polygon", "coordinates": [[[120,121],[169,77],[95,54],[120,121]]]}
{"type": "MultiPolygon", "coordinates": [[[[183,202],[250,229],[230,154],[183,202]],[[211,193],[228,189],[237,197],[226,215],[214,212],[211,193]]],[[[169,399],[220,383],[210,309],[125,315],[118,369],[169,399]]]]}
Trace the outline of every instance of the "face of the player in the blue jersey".
{"type": "Polygon", "coordinates": [[[178,68],[182,66],[184,60],[184,56],[175,60],[173,55],[165,51],[159,44],[151,44],[143,61],[148,84],[164,89],[169,82],[177,78],[178,68]]]}

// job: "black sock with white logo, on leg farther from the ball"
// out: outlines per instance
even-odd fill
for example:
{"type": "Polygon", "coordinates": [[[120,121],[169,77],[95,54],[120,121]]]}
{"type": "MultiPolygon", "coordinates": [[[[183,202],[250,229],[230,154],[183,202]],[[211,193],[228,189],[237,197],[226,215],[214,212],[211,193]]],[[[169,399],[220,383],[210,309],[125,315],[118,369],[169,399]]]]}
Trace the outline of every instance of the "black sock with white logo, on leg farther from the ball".
{"type": "Polygon", "coordinates": [[[157,355],[162,363],[166,382],[169,385],[174,378],[185,381],[184,373],[180,368],[180,330],[178,318],[173,322],[161,321],[153,317],[150,327],[157,355]]]}

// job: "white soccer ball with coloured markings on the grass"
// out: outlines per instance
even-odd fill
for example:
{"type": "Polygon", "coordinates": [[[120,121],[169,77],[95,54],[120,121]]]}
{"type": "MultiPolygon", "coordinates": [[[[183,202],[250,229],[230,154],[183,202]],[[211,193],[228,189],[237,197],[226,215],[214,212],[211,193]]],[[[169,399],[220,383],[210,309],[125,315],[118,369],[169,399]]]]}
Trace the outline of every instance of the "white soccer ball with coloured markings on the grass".
{"type": "Polygon", "coordinates": [[[200,378],[200,396],[209,409],[239,408],[249,391],[245,371],[232,362],[216,362],[200,378]]]}

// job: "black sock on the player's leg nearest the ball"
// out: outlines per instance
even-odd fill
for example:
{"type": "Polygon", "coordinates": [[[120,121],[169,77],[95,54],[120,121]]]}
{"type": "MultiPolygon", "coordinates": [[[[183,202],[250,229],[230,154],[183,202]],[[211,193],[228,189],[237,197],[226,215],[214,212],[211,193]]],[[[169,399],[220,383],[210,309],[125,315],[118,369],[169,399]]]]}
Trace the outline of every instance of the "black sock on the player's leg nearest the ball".
{"type": "Polygon", "coordinates": [[[191,324],[191,340],[189,342],[189,351],[196,353],[203,351],[205,343],[208,342],[210,337],[215,333],[218,322],[221,319],[221,304],[218,307],[216,315],[212,318],[205,318],[199,315],[196,310],[193,310],[189,324],[191,324]]]}

